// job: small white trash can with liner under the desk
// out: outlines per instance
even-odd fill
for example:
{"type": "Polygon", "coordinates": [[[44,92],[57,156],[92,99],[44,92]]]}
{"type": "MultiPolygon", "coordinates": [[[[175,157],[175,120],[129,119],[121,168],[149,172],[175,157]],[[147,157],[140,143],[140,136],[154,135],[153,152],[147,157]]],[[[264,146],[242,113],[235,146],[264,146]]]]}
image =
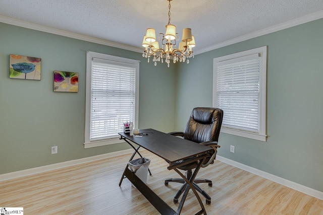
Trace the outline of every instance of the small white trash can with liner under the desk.
{"type": "MultiPolygon", "coordinates": [[[[135,173],[135,175],[146,184],[147,176],[148,176],[148,166],[150,164],[150,160],[148,158],[138,158],[138,159],[129,161],[128,164],[131,172],[135,173]]],[[[132,186],[135,187],[134,185],[132,186]]]]}

